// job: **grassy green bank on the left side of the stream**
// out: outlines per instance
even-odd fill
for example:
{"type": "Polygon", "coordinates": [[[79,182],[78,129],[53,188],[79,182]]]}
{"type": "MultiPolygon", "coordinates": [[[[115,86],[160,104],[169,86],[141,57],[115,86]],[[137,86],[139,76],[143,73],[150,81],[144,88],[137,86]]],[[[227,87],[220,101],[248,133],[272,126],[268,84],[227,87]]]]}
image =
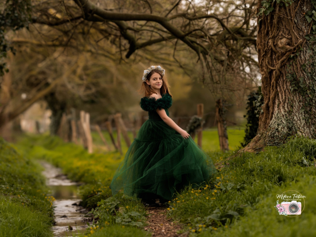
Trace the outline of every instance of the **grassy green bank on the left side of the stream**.
{"type": "Polygon", "coordinates": [[[0,138],[0,237],[51,237],[52,197],[40,167],[0,138]]]}

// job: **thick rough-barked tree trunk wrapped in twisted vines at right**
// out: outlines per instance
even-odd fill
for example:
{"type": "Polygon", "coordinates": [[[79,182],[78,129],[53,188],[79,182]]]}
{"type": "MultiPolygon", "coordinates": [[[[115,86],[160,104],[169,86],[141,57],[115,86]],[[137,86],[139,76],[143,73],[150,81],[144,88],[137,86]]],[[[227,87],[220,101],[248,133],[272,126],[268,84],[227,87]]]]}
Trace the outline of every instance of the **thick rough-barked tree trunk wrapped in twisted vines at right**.
{"type": "Polygon", "coordinates": [[[305,14],[314,7],[310,0],[272,6],[272,12],[258,17],[264,104],[257,135],[244,151],[280,145],[290,135],[315,138],[316,46],[305,39],[314,21],[308,23],[305,14]]]}

